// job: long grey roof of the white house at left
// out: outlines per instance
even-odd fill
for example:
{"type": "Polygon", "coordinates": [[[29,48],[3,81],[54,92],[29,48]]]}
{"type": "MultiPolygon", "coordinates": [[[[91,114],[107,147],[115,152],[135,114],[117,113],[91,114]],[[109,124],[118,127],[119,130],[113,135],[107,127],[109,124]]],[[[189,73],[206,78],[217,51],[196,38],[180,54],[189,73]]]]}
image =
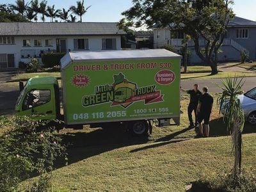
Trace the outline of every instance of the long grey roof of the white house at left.
{"type": "Polygon", "coordinates": [[[0,35],[125,35],[116,22],[0,22],[0,35]]]}

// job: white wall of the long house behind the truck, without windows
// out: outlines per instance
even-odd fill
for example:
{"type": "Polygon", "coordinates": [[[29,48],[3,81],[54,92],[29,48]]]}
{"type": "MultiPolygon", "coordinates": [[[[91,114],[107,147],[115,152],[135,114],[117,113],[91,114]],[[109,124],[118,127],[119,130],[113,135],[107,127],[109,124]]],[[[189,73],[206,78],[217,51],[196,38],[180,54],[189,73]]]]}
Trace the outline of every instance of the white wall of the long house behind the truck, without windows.
{"type": "MultiPolygon", "coordinates": [[[[116,49],[121,49],[121,36],[15,36],[14,45],[0,45],[0,54],[14,54],[15,67],[19,67],[19,61],[28,61],[26,58],[21,58],[21,50],[56,50],[56,38],[67,39],[67,50],[74,51],[74,38],[88,38],[89,51],[102,50],[102,38],[116,38],[116,49]],[[23,47],[23,40],[30,40],[31,47],[23,47]],[[34,40],[42,40],[41,47],[34,46],[34,40]],[[45,40],[52,39],[52,47],[45,47],[45,40]]],[[[25,56],[26,57],[26,56],[25,56]]],[[[31,56],[33,57],[33,56],[31,56]]]]}

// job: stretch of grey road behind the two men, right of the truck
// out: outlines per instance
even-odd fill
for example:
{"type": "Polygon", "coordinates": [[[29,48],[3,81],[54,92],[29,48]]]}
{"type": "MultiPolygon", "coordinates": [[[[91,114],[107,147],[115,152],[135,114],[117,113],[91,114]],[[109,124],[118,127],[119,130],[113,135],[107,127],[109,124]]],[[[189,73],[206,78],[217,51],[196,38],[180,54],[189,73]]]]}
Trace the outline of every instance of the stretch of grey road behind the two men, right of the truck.
{"type": "MultiPolygon", "coordinates": [[[[254,88],[256,86],[256,77],[245,77],[245,83],[243,86],[244,92],[254,88]]],[[[182,88],[188,90],[193,88],[193,84],[197,83],[199,85],[199,89],[202,90],[204,86],[209,88],[209,92],[218,93],[221,92],[221,89],[216,84],[221,84],[221,79],[205,79],[205,80],[181,80],[180,85],[182,88]]]]}

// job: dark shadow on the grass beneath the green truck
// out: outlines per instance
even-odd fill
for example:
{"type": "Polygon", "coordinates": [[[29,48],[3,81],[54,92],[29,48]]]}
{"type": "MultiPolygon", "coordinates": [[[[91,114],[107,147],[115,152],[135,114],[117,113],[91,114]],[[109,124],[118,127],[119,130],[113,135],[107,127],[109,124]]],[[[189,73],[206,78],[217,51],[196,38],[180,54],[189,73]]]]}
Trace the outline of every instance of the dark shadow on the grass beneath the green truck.
{"type": "MultiPolygon", "coordinates": [[[[125,128],[106,127],[92,129],[91,132],[68,132],[63,135],[63,143],[67,145],[68,164],[76,163],[103,152],[147,143],[147,136],[133,136],[125,128]]],[[[65,166],[59,161],[56,168],[65,166]]]]}

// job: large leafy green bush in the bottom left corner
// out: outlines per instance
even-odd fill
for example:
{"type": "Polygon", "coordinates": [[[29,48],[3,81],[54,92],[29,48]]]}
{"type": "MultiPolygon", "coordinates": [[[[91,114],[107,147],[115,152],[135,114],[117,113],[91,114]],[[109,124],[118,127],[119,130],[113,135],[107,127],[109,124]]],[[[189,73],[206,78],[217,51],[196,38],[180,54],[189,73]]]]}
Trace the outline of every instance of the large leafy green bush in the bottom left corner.
{"type": "Polygon", "coordinates": [[[65,147],[61,146],[60,135],[52,129],[38,132],[42,126],[45,123],[26,116],[1,116],[0,127],[6,131],[0,137],[0,191],[16,191],[19,182],[35,174],[41,176],[32,189],[51,187],[54,161],[66,156],[65,147]]]}

